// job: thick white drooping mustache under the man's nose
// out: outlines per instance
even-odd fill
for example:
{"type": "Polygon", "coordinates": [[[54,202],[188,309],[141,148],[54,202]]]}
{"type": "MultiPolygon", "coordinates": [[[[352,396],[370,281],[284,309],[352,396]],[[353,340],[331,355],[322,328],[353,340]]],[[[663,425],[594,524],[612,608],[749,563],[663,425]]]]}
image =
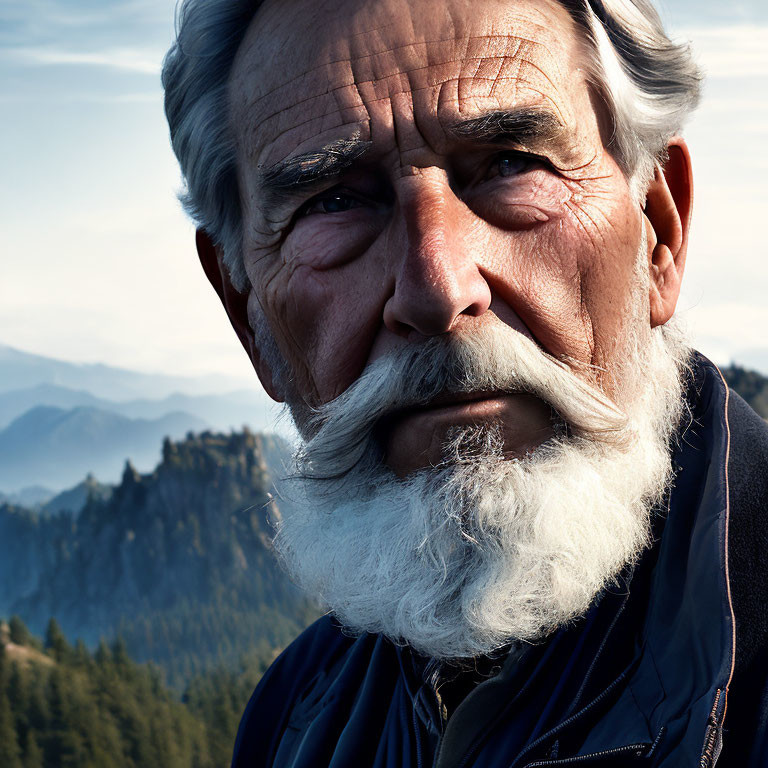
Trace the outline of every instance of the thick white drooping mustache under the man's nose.
{"type": "Polygon", "coordinates": [[[297,456],[304,477],[339,477],[366,455],[387,415],[438,395],[525,392],[547,403],[575,438],[617,448],[633,438],[610,398],[523,334],[499,322],[411,344],[368,366],[344,393],[315,409],[297,456]]]}

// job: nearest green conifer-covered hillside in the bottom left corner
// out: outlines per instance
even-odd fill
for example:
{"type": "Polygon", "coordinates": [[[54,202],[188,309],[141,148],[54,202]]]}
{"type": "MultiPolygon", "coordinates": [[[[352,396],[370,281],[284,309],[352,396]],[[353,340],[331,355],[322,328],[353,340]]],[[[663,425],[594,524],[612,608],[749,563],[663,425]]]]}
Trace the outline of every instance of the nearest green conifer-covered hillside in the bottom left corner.
{"type": "Polygon", "coordinates": [[[0,624],[2,768],[225,768],[248,697],[271,657],[196,678],[182,700],[121,642],[45,647],[0,624]]]}

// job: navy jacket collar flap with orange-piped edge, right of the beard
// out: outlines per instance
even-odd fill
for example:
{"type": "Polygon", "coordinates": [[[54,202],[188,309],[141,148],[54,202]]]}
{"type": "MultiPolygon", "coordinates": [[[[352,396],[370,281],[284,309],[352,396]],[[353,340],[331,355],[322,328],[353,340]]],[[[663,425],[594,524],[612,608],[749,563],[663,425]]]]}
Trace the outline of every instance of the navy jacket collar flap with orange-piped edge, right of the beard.
{"type": "Polygon", "coordinates": [[[733,674],[728,577],[728,388],[694,358],[691,416],[677,450],[648,610],[626,685],[580,754],[653,743],[654,765],[714,765],[733,674]],[[674,753],[674,754],[673,754],[674,753]]]}

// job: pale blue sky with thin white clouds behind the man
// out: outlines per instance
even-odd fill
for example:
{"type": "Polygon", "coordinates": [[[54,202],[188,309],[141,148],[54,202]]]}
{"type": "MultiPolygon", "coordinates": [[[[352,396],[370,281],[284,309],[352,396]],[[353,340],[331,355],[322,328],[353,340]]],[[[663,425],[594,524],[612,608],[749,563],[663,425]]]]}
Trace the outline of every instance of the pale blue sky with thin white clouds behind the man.
{"type": "MultiPolygon", "coordinates": [[[[0,0],[0,344],[255,378],[194,249],[162,110],[171,0],[0,0]]],[[[768,373],[768,3],[667,0],[707,72],[678,311],[768,373]]],[[[230,378],[231,380],[231,378],[230,378]]]]}

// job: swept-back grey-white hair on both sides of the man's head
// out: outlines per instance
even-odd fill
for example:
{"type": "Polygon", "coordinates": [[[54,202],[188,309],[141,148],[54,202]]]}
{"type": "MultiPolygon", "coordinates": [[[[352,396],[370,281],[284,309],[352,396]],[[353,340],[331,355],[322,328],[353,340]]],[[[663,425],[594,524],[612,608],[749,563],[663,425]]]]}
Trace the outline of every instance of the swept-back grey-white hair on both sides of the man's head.
{"type": "MultiPolygon", "coordinates": [[[[641,199],[654,163],[698,103],[687,44],[664,32],[648,0],[559,0],[585,33],[590,80],[606,106],[606,146],[641,199]]],[[[165,113],[185,181],[181,200],[222,248],[233,284],[248,287],[228,81],[261,0],[183,0],[163,64],[165,113]]]]}

